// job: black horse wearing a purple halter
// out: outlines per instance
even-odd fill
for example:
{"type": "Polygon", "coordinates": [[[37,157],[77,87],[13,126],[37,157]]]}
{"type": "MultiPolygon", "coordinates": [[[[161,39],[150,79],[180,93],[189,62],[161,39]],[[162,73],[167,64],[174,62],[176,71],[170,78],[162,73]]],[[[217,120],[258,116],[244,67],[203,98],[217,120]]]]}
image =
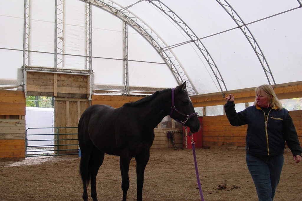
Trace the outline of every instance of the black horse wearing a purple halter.
{"type": "Polygon", "coordinates": [[[144,171],[149,161],[154,140],[153,129],[167,115],[192,133],[200,128],[193,104],[185,91],[186,83],[174,89],[157,91],[133,103],[114,109],[108,105],[92,105],[82,114],[78,136],[81,149],[80,174],[83,181],[83,199],[88,200],[87,184],[91,182],[91,197],[97,201],[96,176],[104,154],[120,156],[123,201],[129,188],[129,165],[137,162],[137,201],[142,200],[144,171]]]}

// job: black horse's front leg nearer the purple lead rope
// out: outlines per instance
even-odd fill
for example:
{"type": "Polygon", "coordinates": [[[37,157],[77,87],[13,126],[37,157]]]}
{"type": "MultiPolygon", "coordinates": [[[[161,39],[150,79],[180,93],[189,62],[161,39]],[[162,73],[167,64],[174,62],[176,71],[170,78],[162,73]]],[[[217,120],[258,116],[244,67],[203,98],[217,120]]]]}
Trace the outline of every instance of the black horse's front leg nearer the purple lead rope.
{"type": "Polygon", "coordinates": [[[150,158],[150,151],[135,157],[136,160],[136,177],[137,177],[137,201],[142,201],[143,185],[144,185],[144,171],[150,158]]]}

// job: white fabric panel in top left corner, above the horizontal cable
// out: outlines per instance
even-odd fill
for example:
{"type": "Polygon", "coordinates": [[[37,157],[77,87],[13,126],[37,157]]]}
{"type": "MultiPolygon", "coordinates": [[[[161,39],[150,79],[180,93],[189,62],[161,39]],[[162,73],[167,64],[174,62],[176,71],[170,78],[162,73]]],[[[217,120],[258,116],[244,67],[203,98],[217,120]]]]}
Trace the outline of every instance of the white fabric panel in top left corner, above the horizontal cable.
{"type": "Polygon", "coordinates": [[[0,48],[23,49],[23,10],[23,0],[0,6],[0,48]]]}

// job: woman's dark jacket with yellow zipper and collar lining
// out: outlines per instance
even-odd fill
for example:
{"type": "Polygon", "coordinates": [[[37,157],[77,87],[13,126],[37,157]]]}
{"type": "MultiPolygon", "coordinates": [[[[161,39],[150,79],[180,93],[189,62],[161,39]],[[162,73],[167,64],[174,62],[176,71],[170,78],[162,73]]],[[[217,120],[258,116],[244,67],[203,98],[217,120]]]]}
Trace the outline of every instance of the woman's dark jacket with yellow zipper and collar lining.
{"type": "Polygon", "coordinates": [[[227,101],[224,108],[231,125],[248,124],[247,153],[259,156],[280,155],[284,152],[286,142],[293,155],[301,155],[297,131],[285,108],[279,110],[253,105],[237,113],[233,101],[227,101]]]}

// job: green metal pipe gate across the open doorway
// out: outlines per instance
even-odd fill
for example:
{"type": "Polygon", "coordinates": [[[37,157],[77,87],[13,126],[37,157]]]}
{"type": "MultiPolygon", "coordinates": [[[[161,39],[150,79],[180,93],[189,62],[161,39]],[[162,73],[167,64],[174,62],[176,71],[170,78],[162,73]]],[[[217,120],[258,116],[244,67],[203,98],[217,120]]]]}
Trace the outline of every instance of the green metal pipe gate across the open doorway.
{"type": "Polygon", "coordinates": [[[27,128],[25,131],[25,157],[48,155],[76,155],[79,154],[78,127],[37,127],[27,128]],[[29,130],[53,129],[53,133],[29,134],[29,130]],[[74,131],[76,132],[67,132],[74,131]],[[51,136],[51,139],[40,139],[51,136]],[[40,138],[39,138],[40,137],[40,138]],[[31,138],[31,139],[28,139],[31,138]],[[51,141],[53,144],[47,144],[51,141]],[[38,145],[30,145],[39,142],[38,145]],[[45,143],[44,143],[45,142],[45,143]]]}

